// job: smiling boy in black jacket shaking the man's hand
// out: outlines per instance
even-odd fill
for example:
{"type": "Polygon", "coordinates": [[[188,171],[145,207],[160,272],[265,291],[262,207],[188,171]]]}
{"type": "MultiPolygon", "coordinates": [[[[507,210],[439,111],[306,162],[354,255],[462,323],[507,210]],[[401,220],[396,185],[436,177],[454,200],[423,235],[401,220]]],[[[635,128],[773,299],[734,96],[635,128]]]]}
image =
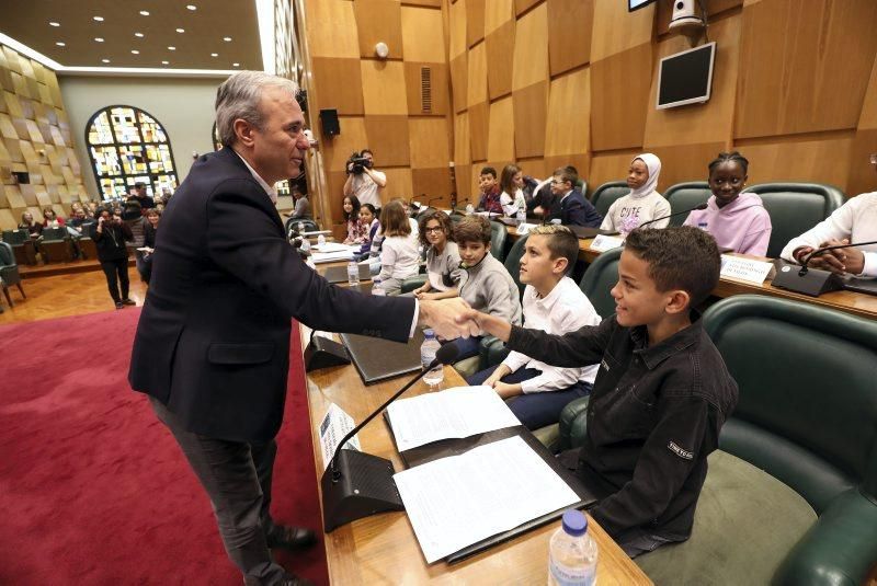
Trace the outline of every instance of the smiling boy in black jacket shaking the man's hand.
{"type": "Polygon", "coordinates": [[[688,539],[707,456],[737,383],[692,308],[719,278],[719,251],[691,227],[635,230],[612,295],[615,315],[562,336],[467,314],[547,364],[600,364],[579,474],[608,494],[590,512],[628,555],[688,539]]]}

